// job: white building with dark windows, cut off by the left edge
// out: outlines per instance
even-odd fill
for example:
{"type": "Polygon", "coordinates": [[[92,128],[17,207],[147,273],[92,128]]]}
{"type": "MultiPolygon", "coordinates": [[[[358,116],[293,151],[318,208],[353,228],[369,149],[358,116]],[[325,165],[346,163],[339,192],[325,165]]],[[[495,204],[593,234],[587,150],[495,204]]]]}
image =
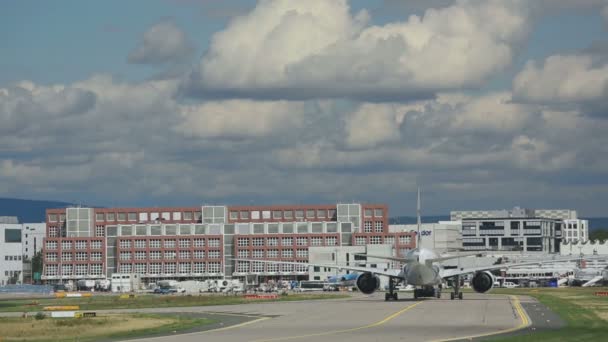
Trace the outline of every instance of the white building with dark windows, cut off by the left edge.
{"type": "Polygon", "coordinates": [[[23,282],[21,225],[0,223],[0,286],[23,282]]]}

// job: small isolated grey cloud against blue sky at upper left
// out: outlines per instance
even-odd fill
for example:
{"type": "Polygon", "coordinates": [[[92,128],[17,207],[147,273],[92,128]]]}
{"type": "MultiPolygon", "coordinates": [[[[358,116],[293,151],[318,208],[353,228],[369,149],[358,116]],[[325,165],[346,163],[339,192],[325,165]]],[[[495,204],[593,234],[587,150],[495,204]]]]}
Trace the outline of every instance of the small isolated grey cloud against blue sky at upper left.
{"type": "Polygon", "coordinates": [[[167,64],[180,62],[194,53],[194,44],[171,20],[150,27],[139,45],[129,53],[133,64],[167,64]]]}

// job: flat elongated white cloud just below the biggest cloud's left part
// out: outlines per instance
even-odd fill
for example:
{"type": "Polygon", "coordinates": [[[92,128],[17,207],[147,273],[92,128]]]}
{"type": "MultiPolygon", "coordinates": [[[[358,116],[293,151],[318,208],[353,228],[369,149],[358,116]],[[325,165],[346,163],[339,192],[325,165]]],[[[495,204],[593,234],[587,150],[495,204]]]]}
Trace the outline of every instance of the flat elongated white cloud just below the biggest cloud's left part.
{"type": "Polygon", "coordinates": [[[175,129],[199,138],[264,137],[299,128],[304,104],[289,101],[225,100],[181,106],[183,121],[175,129]]]}

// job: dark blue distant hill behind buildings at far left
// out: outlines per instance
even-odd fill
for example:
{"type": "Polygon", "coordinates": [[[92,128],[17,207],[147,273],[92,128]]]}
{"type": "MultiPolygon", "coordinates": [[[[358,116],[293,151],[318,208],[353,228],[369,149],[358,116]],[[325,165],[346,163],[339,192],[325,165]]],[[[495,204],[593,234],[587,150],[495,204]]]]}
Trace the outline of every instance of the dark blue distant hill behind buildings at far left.
{"type": "Polygon", "coordinates": [[[46,209],[71,205],[73,204],[67,202],[0,198],[0,216],[17,216],[20,223],[44,222],[46,209]]]}

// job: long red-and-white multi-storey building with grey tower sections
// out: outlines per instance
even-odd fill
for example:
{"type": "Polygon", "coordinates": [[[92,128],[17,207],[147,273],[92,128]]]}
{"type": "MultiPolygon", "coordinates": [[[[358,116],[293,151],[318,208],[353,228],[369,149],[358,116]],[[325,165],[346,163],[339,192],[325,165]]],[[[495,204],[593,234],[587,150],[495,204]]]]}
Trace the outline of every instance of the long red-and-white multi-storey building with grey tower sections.
{"type": "Polygon", "coordinates": [[[307,279],[308,268],[233,258],[306,263],[311,246],[414,247],[389,232],[382,204],[65,208],[46,212],[47,283],[137,273],[144,281],[261,275],[307,279]]]}

